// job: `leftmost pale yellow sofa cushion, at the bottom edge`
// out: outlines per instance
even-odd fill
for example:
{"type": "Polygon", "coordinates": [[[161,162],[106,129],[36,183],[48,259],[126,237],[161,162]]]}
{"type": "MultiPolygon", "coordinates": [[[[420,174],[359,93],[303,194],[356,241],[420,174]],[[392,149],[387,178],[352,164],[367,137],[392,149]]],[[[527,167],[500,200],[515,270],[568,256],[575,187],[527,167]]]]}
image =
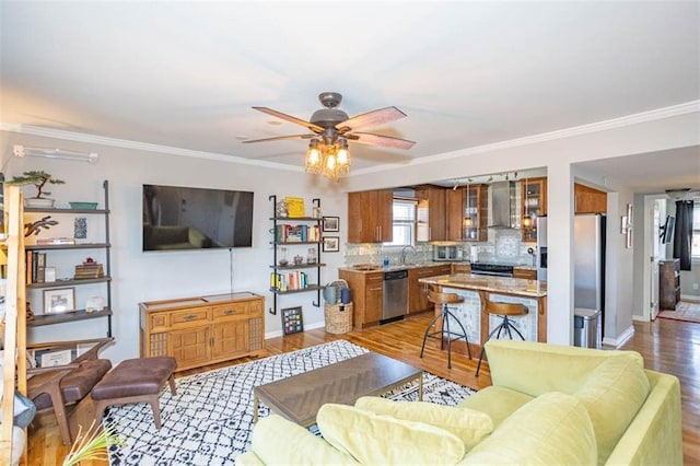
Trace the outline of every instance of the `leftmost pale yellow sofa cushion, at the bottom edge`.
{"type": "MultiPolygon", "coordinates": [[[[357,462],[349,455],[330,446],[322,438],[278,415],[260,419],[253,429],[249,454],[236,464],[255,465],[353,465],[357,462]],[[256,461],[256,459],[259,459],[256,461]]],[[[238,458],[236,457],[236,459],[238,458]]]]}

